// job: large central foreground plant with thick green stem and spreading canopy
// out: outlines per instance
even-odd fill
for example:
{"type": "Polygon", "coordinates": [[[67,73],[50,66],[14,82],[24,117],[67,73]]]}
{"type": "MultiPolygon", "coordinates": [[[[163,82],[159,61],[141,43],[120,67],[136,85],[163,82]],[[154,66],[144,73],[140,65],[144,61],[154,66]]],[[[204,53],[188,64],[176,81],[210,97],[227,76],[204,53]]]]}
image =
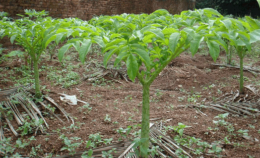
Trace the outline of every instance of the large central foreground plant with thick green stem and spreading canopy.
{"type": "Polygon", "coordinates": [[[143,87],[142,123],[139,150],[142,158],[149,154],[149,88],[158,74],[174,58],[187,49],[192,54],[205,40],[214,60],[218,57],[219,46],[226,47],[220,37],[208,35],[210,19],[222,16],[216,10],[205,8],[184,11],[181,15],[171,15],[167,10],[156,10],[152,14],[122,14],[95,17],[89,21],[91,26],[74,27],[81,30],[80,36],[69,40],[59,51],[59,58],[70,47],[79,51],[82,62],[92,43],[97,43],[105,53],[104,65],[107,66],[113,55],[114,65],[125,62],[131,81],[135,78],[143,87]],[[94,28],[93,28],[94,27],[94,28]],[[96,32],[92,32],[96,30],[96,32]],[[94,36],[93,36],[94,35],[94,36]],[[99,38],[98,38],[99,37],[99,38]]]}

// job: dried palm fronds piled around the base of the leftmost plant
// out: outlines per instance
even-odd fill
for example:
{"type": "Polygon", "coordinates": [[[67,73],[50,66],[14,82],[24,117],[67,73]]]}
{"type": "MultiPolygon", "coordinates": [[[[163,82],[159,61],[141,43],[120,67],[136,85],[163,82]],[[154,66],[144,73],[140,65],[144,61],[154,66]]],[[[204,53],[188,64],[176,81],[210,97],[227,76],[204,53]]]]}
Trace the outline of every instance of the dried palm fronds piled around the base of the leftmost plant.
{"type": "MultiPolygon", "coordinates": [[[[58,120],[63,122],[63,120],[56,115],[50,106],[47,106],[47,104],[54,105],[54,107],[58,108],[63,112],[67,120],[69,119],[74,123],[74,120],[71,116],[69,116],[66,111],[59,106],[57,103],[55,103],[54,100],[52,100],[50,97],[44,96],[43,102],[37,102],[37,104],[34,102],[35,98],[33,97],[35,95],[35,91],[32,88],[31,85],[28,86],[19,86],[19,87],[13,87],[8,88],[0,91],[0,108],[1,108],[1,114],[0,114],[0,139],[4,138],[3,131],[2,131],[2,123],[3,119],[5,119],[6,123],[8,124],[10,130],[13,132],[15,136],[18,136],[19,134],[14,129],[13,125],[11,124],[10,117],[14,118],[17,122],[18,126],[22,126],[26,122],[26,116],[29,116],[30,119],[34,119],[36,121],[39,121],[39,119],[42,119],[45,126],[48,127],[48,123],[44,119],[42,115],[42,111],[40,110],[41,107],[43,109],[48,110],[48,113],[52,114],[53,116],[57,117],[58,120]],[[11,111],[11,114],[7,114],[7,111],[11,111]],[[3,117],[3,118],[2,118],[3,117]]],[[[36,130],[40,130],[42,133],[44,132],[43,125],[39,125],[36,130]]]]}

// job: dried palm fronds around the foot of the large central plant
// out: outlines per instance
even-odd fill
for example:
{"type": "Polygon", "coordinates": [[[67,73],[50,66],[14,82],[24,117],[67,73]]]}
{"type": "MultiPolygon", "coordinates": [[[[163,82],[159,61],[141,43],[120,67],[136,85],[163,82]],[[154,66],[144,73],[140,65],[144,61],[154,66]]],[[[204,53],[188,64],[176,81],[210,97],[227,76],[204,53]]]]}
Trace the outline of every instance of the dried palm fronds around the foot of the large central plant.
{"type": "MultiPolygon", "coordinates": [[[[150,148],[152,148],[153,146],[159,146],[159,149],[156,149],[158,155],[155,155],[154,157],[152,155],[149,155],[148,158],[169,158],[169,157],[179,158],[178,155],[176,155],[176,151],[180,148],[182,148],[183,150],[182,154],[186,156],[186,158],[193,158],[191,155],[189,155],[188,152],[186,152],[186,150],[191,151],[193,149],[184,146],[178,146],[173,139],[164,135],[160,131],[161,129],[162,129],[161,123],[150,124],[150,140],[153,140],[152,142],[150,142],[150,148]]],[[[133,146],[134,143],[131,143],[131,141],[121,141],[115,144],[94,148],[91,157],[103,158],[102,151],[108,152],[114,149],[114,151],[110,153],[113,155],[113,158],[138,158],[135,154],[130,157],[127,157],[129,153],[134,153],[134,150],[132,149],[133,146]]],[[[54,157],[54,158],[81,158],[81,155],[84,152],[87,151],[81,151],[74,155],[65,155],[65,156],[54,157]]],[[[200,154],[207,156],[203,153],[200,154]]]]}

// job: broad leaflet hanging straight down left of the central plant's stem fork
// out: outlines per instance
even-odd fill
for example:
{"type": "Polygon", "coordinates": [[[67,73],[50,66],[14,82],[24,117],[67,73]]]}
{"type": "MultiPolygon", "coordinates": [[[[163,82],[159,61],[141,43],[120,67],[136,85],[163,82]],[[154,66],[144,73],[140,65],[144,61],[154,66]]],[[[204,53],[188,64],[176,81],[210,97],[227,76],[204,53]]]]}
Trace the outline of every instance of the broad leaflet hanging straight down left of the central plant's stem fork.
{"type": "Polygon", "coordinates": [[[132,82],[134,82],[138,67],[137,67],[136,58],[132,53],[130,53],[130,55],[128,56],[127,68],[128,68],[128,77],[132,82]]]}

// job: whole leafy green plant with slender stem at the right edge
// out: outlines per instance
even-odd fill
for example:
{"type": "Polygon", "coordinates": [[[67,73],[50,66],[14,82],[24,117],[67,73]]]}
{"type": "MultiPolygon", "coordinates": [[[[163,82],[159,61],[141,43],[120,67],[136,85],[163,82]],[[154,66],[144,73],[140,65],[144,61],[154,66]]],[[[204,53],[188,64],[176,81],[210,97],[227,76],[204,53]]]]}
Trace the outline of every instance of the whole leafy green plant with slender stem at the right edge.
{"type": "Polygon", "coordinates": [[[216,36],[221,36],[224,41],[231,47],[235,48],[235,51],[240,59],[240,81],[239,81],[239,93],[244,93],[244,62],[243,59],[247,52],[252,49],[252,43],[260,40],[260,23],[245,16],[246,20],[232,19],[232,18],[218,18],[214,21],[216,27],[213,28],[216,36]]]}

